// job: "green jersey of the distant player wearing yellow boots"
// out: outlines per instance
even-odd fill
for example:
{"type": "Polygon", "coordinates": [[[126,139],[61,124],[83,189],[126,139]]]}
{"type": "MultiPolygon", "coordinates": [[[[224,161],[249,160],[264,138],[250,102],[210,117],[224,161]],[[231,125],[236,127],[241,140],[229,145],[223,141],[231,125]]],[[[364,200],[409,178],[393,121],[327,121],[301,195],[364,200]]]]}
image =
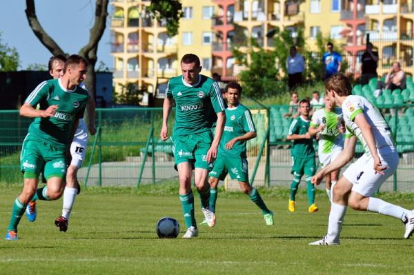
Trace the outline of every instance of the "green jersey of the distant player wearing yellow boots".
{"type": "MultiPolygon", "coordinates": [[[[306,134],[309,123],[310,121],[303,119],[302,116],[297,117],[290,124],[288,134],[306,134]]],[[[312,139],[295,139],[290,153],[295,157],[315,156],[312,139]]]]}

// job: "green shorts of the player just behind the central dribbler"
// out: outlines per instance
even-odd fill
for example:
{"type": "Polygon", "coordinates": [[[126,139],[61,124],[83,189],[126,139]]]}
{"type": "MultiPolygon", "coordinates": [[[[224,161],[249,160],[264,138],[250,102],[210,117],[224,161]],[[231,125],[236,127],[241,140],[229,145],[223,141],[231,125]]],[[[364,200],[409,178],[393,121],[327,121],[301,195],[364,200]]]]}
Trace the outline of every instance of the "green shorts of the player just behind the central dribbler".
{"type": "Polygon", "coordinates": [[[220,181],[224,181],[227,174],[230,178],[248,183],[248,163],[247,159],[239,156],[224,156],[219,154],[214,162],[213,170],[208,176],[213,176],[220,181]]]}

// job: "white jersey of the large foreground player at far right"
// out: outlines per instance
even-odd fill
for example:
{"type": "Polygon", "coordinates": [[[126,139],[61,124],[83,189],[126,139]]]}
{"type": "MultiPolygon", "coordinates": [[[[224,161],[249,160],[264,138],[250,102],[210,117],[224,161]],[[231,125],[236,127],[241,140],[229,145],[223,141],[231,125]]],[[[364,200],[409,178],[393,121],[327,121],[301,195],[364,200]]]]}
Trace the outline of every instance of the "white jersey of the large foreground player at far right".
{"type": "Polygon", "coordinates": [[[377,149],[383,149],[386,147],[395,147],[391,128],[389,128],[380,110],[365,99],[362,96],[347,96],[345,101],[342,103],[342,112],[344,114],[344,121],[346,125],[346,137],[357,136],[359,142],[364,146],[365,154],[371,156],[368,145],[362,136],[362,132],[354,122],[357,114],[364,113],[366,121],[371,125],[371,130],[374,135],[377,149]]]}

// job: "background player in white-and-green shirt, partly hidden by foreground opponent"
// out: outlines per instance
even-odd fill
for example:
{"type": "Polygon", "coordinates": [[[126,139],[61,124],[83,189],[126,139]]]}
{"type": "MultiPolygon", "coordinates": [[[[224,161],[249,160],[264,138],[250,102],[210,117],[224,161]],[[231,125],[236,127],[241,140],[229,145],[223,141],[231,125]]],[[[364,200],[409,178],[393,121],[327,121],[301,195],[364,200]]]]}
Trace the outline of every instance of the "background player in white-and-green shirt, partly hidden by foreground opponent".
{"type": "MultiPolygon", "coordinates": [[[[318,136],[318,156],[321,167],[325,167],[337,158],[344,148],[343,133],[345,128],[342,119],[342,110],[335,108],[327,98],[324,99],[325,108],[317,110],[309,127],[311,136],[318,136]]],[[[339,169],[325,176],[326,193],[332,201],[331,189],[337,183],[339,169]]]]}

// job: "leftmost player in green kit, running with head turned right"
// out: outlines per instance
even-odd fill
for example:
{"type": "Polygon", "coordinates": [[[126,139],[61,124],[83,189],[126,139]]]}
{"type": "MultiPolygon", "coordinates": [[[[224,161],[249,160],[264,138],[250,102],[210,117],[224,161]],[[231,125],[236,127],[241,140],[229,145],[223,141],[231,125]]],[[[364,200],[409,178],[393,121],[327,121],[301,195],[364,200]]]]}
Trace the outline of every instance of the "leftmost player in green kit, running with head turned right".
{"type": "Polygon", "coordinates": [[[68,145],[89,99],[88,92],[79,87],[86,77],[86,65],[79,55],[70,56],[63,77],[40,83],[20,108],[21,116],[35,119],[21,148],[24,185],[14,201],[6,240],[17,240],[17,225],[32,198],[51,201],[63,192],[68,145]],[[37,189],[43,167],[47,185],[37,189]]]}

